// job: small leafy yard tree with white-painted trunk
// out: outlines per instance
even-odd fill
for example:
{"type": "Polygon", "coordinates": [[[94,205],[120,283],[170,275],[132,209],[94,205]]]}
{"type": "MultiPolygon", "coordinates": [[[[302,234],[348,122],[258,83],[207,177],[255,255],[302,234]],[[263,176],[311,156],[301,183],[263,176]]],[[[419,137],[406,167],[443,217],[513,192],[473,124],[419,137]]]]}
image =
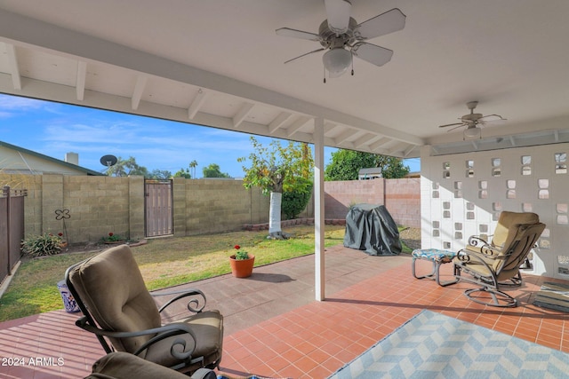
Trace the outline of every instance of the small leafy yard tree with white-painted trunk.
{"type": "Polygon", "coordinates": [[[273,139],[268,147],[262,146],[256,138],[251,138],[253,152],[249,157],[237,159],[237,162],[250,163],[243,166],[244,186],[260,187],[262,193],[270,194],[268,234],[271,238],[283,239],[286,235],[281,229],[281,203],[283,192],[306,189],[311,185],[309,172],[314,166],[310,148],[306,144],[290,141],[282,146],[273,139]]]}

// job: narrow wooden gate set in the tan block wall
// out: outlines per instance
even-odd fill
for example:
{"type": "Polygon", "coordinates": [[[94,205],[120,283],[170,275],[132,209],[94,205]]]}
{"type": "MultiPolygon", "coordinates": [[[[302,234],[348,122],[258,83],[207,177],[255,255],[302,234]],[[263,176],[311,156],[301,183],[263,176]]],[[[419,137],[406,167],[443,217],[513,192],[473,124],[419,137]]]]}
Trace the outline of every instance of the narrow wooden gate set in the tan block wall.
{"type": "Polygon", "coordinates": [[[144,180],[146,236],[173,233],[172,180],[144,180]]]}

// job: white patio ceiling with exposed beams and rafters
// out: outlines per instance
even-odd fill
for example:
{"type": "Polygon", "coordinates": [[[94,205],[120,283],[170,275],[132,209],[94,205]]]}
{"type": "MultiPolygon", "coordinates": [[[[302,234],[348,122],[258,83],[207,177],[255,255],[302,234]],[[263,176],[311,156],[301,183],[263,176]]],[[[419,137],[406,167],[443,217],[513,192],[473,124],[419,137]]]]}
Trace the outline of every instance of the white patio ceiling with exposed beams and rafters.
{"type": "Polygon", "coordinates": [[[566,0],[352,4],[405,28],[369,41],[388,64],[323,83],[321,52],[283,63],[319,45],[275,33],[317,33],[322,0],[0,0],[0,92],[311,143],[321,118],[326,146],[399,157],[569,135],[566,0]],[[469,100],[508,118],[493,143],[438,128],[469,100]]]}

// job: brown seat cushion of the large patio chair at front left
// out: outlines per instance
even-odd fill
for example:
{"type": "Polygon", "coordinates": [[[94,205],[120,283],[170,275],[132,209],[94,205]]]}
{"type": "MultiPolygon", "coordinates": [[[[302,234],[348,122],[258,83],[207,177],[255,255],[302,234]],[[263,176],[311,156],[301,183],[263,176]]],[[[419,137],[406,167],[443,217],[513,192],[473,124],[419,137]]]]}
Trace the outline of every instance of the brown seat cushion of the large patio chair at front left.
{"type": "MultiPolygon", "coordinates": [[[[205,311],[194,316],[176,322],[188,323],[196,334],[196,350],[193,357],[204,356],[204,364],[208,365],[220,359],[223,342],[223,317],[219,311],[205,311]]],[[[193,340],[188,336],[172,336],[157,343],[153,343],[145,355],[145,359],[151,360],[163,366],[173,366],[179,363],[170,354],[172,342],[178,338],[187,341],[188,347],[193,345],[193,340]]]]}

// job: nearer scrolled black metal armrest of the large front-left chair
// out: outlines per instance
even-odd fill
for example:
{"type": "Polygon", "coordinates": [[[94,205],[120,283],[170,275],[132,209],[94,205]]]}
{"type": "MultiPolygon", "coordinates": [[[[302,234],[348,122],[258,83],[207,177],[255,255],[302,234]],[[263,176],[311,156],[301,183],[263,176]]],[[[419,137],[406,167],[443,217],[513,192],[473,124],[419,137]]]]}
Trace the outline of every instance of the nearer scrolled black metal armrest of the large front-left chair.
{"type": "Polygon", "coordinates": [[[148,336],[148,335],[156,335],[153,336],[148,340],[147,343],[142,344],[137,351],[134,351],[134,355],[139,355],[140,352],[145,351],[148,347],[156,343],[158,341],[162,341],[165,338],[169,338],[171,336],[179,336],[179,335],[188,335],[194,341],[193,346],[190,347],[188,351],[186,350],[186,341],[182,338],[176,338],[172,342],[172,346],[170,347],[170,353],[176,359],[191,359],[192,353],[196,349],[196,334],[190,328],[188,324],[180,323],[180,322],[172,322],[171,324],[164,325],[159,328],[150,328],[145,330],[138,330],[136,332],[112,332],[109,330],[97,328],[89,323],[85,316],[79,318],[75,322],[76,326],[82,328],[88,332],[91,332],[97,336],[106,336],[111,338],[129,338],[129,337],[137,337],[137,336],[148,336]],[[175,351],[174,347],[176,345],[180,345],[182,347],[182,351],[178,352],[175,351]]]}

